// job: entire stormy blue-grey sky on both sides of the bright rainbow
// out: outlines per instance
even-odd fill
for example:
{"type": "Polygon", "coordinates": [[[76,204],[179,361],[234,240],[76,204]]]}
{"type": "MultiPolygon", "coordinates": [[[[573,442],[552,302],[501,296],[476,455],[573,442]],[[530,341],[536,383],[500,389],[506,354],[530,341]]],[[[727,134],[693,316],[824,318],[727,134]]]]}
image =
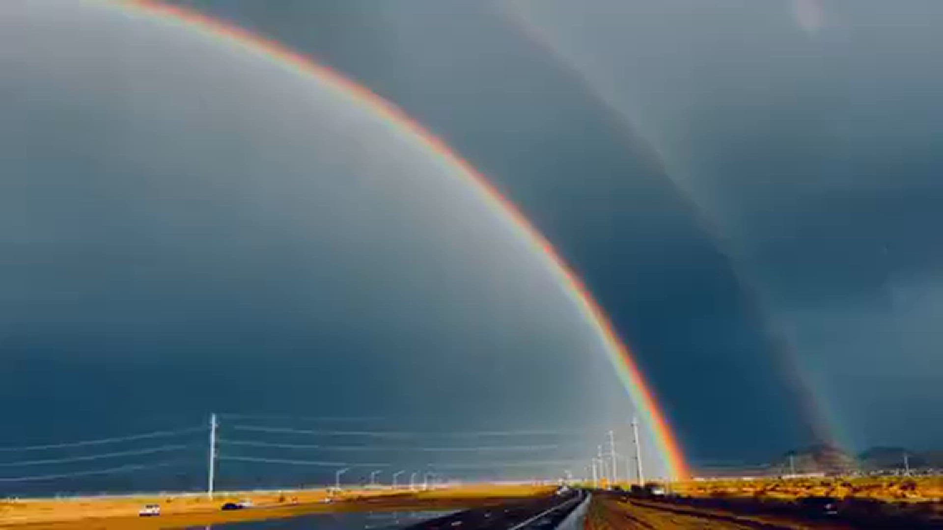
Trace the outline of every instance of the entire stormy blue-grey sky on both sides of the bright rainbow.
{"type": "MultiPolygon", "coordinates": [[[[64,4],[8,7],[0,33],[7,437],[222,408],[445,430],[633,414],[545,264],[416,143],[264,60],[64,4]]],[[[852,447],[939,445],[935,3],[187,4],[488,174],[696,459],[768,460],[822,422],[852,447]]]]}

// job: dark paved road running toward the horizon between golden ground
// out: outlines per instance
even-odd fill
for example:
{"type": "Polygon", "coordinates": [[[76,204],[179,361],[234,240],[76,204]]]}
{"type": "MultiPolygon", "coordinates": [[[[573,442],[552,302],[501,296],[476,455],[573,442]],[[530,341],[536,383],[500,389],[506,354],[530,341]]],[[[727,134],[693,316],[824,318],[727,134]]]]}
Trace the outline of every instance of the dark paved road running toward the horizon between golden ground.
{"type": "Polygon", "coordinates": [[[474,508],[432,521],[407,526],[407,530],[551,530],[585,498],[586,493],[541,497],[505,505],[474,508]]]}

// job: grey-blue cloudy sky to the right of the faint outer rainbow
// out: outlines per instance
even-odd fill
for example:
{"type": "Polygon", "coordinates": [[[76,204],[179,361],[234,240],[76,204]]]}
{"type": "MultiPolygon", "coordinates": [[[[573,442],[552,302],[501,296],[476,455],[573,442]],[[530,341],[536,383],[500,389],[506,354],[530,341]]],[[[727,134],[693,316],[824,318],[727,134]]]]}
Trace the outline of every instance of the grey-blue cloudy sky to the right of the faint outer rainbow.
{"type": "Polygon", "coordinates": [[[939,444],[943,8],[523,5],[717,220],[838,430],[885,442],[866,411],[897,410],[901,442],[939,444]]]}

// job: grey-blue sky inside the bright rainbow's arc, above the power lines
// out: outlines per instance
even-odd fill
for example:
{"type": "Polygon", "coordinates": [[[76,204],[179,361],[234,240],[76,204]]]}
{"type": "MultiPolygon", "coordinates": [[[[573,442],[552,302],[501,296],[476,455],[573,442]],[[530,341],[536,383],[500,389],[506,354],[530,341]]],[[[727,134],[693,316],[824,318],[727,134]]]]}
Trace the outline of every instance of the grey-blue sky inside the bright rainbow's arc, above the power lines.
{"type": "Polygon", "coordinates": [[[4,445],[628,408],[546,263],[415,142],[222,43],[55,5],[0,32],[4,445]]]}

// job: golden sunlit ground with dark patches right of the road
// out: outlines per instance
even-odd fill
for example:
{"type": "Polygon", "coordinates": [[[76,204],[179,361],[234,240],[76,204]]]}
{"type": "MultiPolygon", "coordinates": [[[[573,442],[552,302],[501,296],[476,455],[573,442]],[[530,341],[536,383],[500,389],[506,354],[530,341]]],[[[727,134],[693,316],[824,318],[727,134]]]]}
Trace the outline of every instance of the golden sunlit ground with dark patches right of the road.
{"type": "Polygon", "coordinates": [[[943,527],[943,477],[727,478],[675,483],[670,492],[676,496],[600,493],[587,528],[943,527]]]}

